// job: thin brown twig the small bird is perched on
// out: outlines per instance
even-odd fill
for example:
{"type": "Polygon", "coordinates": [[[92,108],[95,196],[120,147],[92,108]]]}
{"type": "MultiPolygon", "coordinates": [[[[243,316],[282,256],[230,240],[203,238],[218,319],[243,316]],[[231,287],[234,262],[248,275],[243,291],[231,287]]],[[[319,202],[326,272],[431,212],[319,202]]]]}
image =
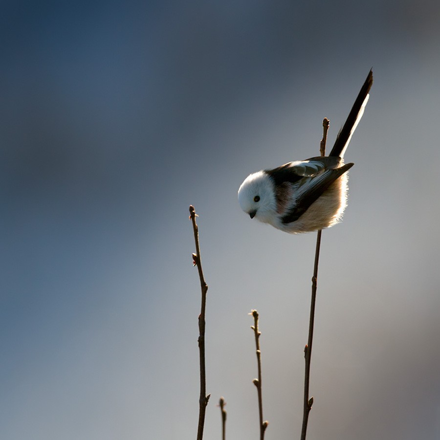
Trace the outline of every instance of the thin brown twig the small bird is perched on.
{"type": "MultiPolygon", "coordinates": [[[[321,156],[325,156],[326,154],[327,132],[329,131],[329,125],[330,125],[330,121],[327,118],[324,118],[324,120],[322,121],[323,136],[320,144],[321,156]]],[[[313,266],[312,292],[311,292],[311,301],[310,301],[310,320],[308,324],[308,342],[306,347],[304,347],[304,357],[306,359],[306,372],[304,374],[304,412],[303,412],[303,426],[301,431],[301,440],[306,439],[308,414],[310,413],[311,407],[313,405],[313,397],[309,398],[310,361],[311,361],[311,349],[313,344],[313,328],[315,322],[315,303],[316,303],[316,289],[317,289],[317,281],[318,281],[319,250],[321,247],[321,233],[322,230],[320,229],[316,237],[315,264],[313,266]]]]}

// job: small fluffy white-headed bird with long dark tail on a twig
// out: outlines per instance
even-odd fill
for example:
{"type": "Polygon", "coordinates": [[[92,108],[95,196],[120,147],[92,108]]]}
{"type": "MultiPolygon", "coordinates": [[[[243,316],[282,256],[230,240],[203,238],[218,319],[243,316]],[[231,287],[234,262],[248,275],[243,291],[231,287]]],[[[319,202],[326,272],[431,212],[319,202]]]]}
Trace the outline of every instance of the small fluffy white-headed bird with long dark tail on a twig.
{"type": "Polygon", "coordinates": [[[238,191],[242,210],[251,219],[298,234],[338,223],[347,206],[348,171],[344,154],[370,97],[370,70],[328,156],[288,162],[245,178],[238,191]]]}

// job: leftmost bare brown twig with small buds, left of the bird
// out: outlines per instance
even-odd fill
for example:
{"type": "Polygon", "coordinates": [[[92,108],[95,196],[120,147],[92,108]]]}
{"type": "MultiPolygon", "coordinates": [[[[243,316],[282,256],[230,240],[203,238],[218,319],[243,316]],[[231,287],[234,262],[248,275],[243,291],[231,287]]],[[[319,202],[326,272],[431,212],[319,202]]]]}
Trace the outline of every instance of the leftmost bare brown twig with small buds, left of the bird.
{"type": "Polygon", "coordinates": [[[200,353],[200,398],[199,402],[199,412],[198,412],[198,430],[197,430],[197,440],[203,439],[203,428],[205,424],[205,412],[206,405],[208,404],[210,394],[206,396],[206,371],[205,371],[205,308],[206,308],[206,292],[208,291],[208,285],[203,277],[203,270],[201,266],[200,258],[200,244],[198,242],[198,226],[196,222],[196,210],[193,205],[190,205],[190,219],[193,223],[194,229],[194,240],[196,242],[196,253],[193,254],[193,263],[197,266],[198,276],[200,278],[200,288],[201,288],[201,308],[200,314],[198,315],[198,350],[200,353]]]}

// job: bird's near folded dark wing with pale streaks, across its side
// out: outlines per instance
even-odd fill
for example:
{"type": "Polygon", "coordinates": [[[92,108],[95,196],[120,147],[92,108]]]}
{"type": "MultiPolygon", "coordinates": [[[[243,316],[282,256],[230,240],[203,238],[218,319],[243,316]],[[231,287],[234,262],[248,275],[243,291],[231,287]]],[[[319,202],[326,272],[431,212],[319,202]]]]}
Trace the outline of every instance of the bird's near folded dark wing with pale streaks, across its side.
{"type": "Polygon", "coordinates": [[[316,177],[308,179],[307,183],[299,186],[295,191],[295,204],[282,218],[283,223],[291,223],[298,220],[308,210],[310,205],[353,165],[353,163],[348,163],[340,168],[327,170],[316,177]]]}

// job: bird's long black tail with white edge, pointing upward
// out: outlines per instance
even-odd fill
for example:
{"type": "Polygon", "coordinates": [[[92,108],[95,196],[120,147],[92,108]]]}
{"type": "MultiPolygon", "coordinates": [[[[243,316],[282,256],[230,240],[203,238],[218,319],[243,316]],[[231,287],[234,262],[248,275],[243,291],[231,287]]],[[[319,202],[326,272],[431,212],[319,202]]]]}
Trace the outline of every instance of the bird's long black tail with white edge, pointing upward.
{"type": "Polygon", "coordinates": [[[350,139],[352,138],[352,134],[354,133],[354,130],[356,130],[357,124],[359,124],[359,121],[364,114],[364,109],[367,105],[368,98],[370,96],[369,91],[372,85],[373,70],[370,70],[364,85],[357,95],[356,101],[354,101],[352,110],[350,110],[350,114],[348,115],[344,126],[336,137],[336,141],[329,154],[330,156],[344,157],[345,150],[347,150],[350,139]]]}

